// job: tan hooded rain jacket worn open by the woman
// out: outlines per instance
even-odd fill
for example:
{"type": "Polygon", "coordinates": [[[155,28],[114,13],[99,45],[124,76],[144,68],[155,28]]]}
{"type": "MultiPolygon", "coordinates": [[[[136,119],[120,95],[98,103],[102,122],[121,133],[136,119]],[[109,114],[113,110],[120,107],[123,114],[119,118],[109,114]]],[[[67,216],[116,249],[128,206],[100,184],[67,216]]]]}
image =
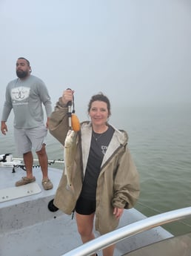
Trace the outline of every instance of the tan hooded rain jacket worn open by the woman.
{"type": "MultiPolygon", "coordinates": [[[[50,116],[49,129],[50,134],[64,145],[69,126],[67,106],[63,105],[61,98],[50,116]]],[[[67,190],[67,177],[63,173],[54,199],[54,205],[64,211],[65,214],[72,214],[81,192],[91,137],[91,123],[82,122],[81,131],[78,132],[73,169],[75,191],[72,193],[67,190]]],[[[130,209],[138,200],[140,190],[138,172],[127,148],[127,140],[125,131],[115,129],[101,165],[96,190],[96,230],[100,234],[111,232],[118,226],[118,220],[113,215],[114,207],[130,209]]]]}

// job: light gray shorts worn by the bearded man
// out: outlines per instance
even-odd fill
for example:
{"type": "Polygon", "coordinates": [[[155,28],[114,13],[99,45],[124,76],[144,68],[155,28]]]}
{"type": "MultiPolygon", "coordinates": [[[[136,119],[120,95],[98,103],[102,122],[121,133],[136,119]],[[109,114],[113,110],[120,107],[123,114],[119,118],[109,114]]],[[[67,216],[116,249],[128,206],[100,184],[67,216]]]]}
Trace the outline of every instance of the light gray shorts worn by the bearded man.
{"type": "Polygon", "coordinates": [[[19,154],[25,154],[32,149],[38,152],[47,136],[47,128],[44,125],[30,129],[14,128],[14,136],[19,154]]]}

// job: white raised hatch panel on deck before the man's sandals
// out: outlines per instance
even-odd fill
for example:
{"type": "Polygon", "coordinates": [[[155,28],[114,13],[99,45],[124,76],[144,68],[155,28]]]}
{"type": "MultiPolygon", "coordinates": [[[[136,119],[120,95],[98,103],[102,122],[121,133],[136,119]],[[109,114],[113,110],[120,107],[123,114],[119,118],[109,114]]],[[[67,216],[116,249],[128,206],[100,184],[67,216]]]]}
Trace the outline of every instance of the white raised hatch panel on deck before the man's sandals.
{"type": "Polygon", "coordinates": [[[3,188],[0,190],[0,203],[38,193],[41,193],[41,188],[37,183],[29,183],[19,187],[3,188]]]}

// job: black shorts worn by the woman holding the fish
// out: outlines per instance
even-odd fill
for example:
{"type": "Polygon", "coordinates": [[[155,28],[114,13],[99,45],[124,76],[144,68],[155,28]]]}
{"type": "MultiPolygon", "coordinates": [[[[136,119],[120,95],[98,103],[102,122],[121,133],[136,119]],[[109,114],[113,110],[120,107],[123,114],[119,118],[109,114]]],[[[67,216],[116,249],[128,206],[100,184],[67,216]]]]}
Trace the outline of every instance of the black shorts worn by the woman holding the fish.
{"type": "Polygon", "coordinates": [[[96,211],[96,200],[88,200],[84,197],[79,197],[76,203],[75,211],[78,214],[90,215],[96,211]]]}

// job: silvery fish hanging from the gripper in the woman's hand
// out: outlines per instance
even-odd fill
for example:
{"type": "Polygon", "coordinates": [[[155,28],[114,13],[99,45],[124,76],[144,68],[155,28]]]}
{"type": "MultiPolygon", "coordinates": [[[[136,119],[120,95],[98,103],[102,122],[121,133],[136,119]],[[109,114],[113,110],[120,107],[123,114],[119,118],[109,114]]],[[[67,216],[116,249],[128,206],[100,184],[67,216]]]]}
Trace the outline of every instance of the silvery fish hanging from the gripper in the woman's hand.
{"type": "Polygon", "coordinates": [[[69,130],[64,142],[64,174],[67,176],[67,190],[73,188],[73,165],[77,147],[77,131],[69,130]]]}

